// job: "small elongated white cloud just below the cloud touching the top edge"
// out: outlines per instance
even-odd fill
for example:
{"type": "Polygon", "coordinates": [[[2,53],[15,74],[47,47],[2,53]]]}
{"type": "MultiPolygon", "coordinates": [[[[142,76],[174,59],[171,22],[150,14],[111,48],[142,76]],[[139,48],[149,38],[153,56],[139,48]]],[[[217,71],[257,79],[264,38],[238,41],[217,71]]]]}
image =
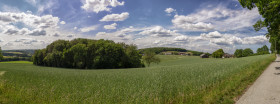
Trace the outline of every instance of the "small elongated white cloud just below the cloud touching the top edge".
{"type": "Polygon", "coordinates": [[[121,14],[109,14],[104,16],[100,21],[124,21],[129,17],[128,12],[123,12],[121,14]]]}

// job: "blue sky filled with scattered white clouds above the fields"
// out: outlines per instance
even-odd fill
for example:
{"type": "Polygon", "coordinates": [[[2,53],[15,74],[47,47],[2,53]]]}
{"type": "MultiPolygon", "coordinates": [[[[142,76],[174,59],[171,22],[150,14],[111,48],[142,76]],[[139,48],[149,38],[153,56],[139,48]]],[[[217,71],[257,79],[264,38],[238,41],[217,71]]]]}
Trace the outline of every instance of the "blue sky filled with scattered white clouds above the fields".
{"type": "Polygon", "coordinates": [[[3,50],[42,49],[55,40],[108,39],[138,48],[213,52],[268,45],[252,25],[258,10],[237,0],[0,0],[3,50]]]}

